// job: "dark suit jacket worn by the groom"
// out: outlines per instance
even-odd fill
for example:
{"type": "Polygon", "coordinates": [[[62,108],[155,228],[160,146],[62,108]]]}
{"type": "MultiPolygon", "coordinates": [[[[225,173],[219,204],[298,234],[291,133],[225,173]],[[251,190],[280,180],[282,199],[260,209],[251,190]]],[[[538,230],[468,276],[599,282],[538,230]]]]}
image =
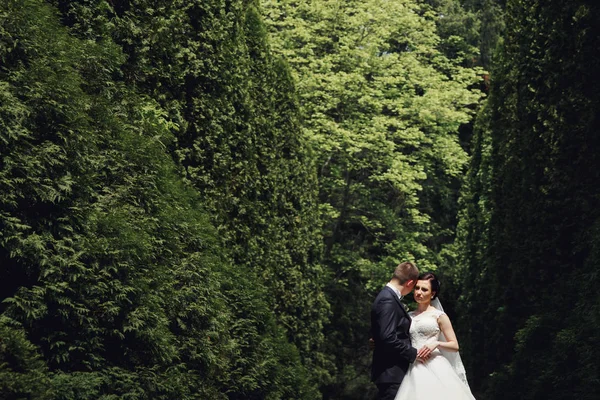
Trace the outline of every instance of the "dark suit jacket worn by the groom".
{"type": "Polygon", "coordinates": [[[411,319],[392,289],[384,287],[371,307],[371,337],[375,341],[371,380],[401,383],[417,349],[410,343],[411,319]]]}

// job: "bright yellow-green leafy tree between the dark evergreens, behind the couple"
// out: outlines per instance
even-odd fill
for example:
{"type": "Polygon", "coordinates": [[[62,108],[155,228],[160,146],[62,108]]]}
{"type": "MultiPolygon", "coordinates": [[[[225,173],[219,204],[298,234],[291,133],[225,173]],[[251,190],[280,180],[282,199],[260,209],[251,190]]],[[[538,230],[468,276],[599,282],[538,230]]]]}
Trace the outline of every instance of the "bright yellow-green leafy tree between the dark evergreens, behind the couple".
{"type": "Polygon", "coordinates": [[[465,54],[444,54],[428,5],[262,5],[273,48],[292,67],[319,171],[326,334],[339,374],[324,390],[356,398],[370,386],[371,292],[401,260],[435,269],[453,240],[467,162],[458,129],[481,96],[472,89],[480,71],[464,67],[465,54]]]}

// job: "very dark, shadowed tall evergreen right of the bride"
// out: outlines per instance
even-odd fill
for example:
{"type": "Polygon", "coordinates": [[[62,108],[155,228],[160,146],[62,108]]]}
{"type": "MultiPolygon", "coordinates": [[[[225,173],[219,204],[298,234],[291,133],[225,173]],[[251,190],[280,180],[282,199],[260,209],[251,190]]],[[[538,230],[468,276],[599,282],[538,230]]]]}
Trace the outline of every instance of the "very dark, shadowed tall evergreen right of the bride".
{"type": "Polygon", "coordinates": [[[600,8],[515,0],[506,12],[461,222],[470,376],[482,398],[591,399],[600,8]]]}

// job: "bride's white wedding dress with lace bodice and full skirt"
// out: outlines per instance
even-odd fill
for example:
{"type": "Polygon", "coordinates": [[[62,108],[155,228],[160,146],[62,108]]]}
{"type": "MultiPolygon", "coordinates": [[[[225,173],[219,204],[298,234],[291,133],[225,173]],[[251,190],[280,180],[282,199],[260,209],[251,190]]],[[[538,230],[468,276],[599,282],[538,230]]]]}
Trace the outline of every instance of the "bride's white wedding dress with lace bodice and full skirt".
{"type": "MultiPolygon", "coordinates": [[[[443,311],[436,309],[418,315],[409,314],[412,318],[410,339],[414,348],[420,349],[425,343],[438,340],[438,318],[445,314],[443,311]]],[[[444,354],[448,353],[444,351],[444,354]]],[[[436,349],[428,361],[415,361],[411,364],[395,400],[474,400],[466,383],[462,363],[455,369],[444,354],[436,349]]],[[[452,359],[452,355],[450,358],[452,359]]]]}

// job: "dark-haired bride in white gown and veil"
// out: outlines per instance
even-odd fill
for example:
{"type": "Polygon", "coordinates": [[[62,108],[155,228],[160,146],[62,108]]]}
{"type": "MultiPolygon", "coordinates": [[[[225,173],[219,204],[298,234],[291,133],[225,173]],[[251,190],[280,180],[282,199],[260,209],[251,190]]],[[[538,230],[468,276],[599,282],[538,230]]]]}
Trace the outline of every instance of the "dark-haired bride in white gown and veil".
{"type": "Polygon", "coordinates": [[[411,364],[395,400],[474,400],[458,354],[458,341],[450,319],[437,296],[440,282],[430,272],[421,274],[414,288],[418,306],[412,318],[410,339],[427,361],[411,364]]]}

